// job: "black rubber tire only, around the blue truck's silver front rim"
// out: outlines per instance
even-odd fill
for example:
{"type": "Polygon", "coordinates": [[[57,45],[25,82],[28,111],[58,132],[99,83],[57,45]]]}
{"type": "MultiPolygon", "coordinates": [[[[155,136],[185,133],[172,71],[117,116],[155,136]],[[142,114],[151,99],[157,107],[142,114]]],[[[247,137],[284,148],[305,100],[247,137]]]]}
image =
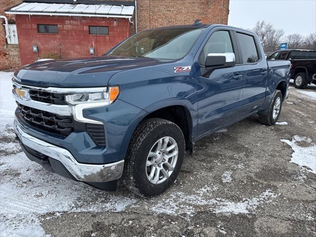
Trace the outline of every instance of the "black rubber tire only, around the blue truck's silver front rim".
{"type": "Polygon", "coordinates": [[[184,153],[184,136],[175,123],[160,118],[150,118],[140,122],[127,150],[122,176],[123,184],[139,196],[152,197],[163,193],[176,180],[183,163],[184,153]],[[178,158],[169,178],[160,184],[153,184],[147,178],[147,157],[153,145],[165,136],[172,137],[177,143],[178,158]]]}

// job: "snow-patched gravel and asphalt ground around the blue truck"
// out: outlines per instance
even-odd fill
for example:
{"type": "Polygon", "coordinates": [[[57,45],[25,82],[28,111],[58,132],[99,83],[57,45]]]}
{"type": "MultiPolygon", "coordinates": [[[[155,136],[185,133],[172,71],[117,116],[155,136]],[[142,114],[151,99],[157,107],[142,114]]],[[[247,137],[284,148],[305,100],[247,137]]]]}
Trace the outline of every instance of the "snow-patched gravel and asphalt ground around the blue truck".
{"type": "MultiPolygon", "coordinates": [[[[49,173],[12,130],[0,74],[0,236],[316,236],[316,87],[290,88],[279,123],[244,119],[197,142],[166,193],[114,193],[49,173]]],[[[9,99],[8,99],[9,98],[9,99]]]]}

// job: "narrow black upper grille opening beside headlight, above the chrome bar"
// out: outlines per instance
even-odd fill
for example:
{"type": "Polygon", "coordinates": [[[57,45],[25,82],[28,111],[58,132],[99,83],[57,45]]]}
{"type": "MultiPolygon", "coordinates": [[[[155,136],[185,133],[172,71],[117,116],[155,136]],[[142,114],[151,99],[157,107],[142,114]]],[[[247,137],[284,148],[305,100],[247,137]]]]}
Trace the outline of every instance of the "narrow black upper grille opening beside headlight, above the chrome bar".
{"type": "Polygon", "coordinates": [[[65,101],[65,94],[30,89],[29,95],[32,100],[40,101],[43,103],[67,105],[67,102],[65,101]]]}

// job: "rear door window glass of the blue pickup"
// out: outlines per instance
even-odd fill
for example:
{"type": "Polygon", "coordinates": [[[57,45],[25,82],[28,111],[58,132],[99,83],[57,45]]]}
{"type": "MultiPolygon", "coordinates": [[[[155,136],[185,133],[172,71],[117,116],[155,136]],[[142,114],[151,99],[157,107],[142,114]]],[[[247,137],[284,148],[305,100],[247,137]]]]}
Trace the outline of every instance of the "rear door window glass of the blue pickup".
{"type": "Polygon", "coordinates": [[[255,63],[259,61],[258,49],[252,36],[238,33],[237,38],[240,45],[243,63],[255,63]]]}

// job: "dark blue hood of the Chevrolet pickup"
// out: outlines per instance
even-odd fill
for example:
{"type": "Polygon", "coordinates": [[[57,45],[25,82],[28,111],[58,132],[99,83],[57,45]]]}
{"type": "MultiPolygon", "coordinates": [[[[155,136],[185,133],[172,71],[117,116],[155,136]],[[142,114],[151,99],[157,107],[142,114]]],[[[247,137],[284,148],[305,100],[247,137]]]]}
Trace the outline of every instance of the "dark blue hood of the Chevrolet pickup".
{"type": "Polygon", "coordinates": [[[153,58],[98,56],[49,60],[26,65],[14,76],[22,83],[55,87],[107,86],[111,77],[124,70],[166,63],[153,58]]]}

